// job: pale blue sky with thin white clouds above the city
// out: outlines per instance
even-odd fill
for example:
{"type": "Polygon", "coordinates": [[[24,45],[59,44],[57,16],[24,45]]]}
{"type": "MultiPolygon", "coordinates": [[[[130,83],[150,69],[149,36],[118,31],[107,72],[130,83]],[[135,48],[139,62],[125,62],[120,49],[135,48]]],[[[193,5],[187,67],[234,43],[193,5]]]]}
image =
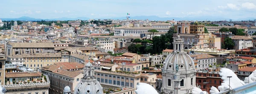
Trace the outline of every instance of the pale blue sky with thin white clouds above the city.
{"type": "Polygon", "coordinates": [[[256,17],[256,0],[1,0],[0,18],[256,17]]]}

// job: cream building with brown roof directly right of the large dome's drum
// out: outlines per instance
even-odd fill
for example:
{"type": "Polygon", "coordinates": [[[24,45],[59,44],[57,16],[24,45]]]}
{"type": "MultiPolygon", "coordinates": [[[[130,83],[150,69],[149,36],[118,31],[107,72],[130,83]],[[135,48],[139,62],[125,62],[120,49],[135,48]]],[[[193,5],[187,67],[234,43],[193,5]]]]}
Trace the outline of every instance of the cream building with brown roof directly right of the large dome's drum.
{"type": "Polygon", "coordinates": [[[193,60],[198,60],[198,64],[195,66],[198,69],[208,68],[209,66],[214,66],[214,63],[217,63],[217,58],[209,54],[192,54],[190,57],[193,60]]]}

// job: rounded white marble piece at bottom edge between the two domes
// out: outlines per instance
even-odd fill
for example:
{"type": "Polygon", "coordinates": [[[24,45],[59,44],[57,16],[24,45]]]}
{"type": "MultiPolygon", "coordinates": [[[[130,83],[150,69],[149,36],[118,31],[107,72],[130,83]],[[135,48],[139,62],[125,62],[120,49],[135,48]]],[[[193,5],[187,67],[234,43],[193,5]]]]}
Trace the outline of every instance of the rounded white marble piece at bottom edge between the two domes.
{"type": "Polygon", "coordinates": [[[136,94],[158,94],[156,89],[147,83],[139,83],[139,85],[136,85],[136,87],[136,94]]]}

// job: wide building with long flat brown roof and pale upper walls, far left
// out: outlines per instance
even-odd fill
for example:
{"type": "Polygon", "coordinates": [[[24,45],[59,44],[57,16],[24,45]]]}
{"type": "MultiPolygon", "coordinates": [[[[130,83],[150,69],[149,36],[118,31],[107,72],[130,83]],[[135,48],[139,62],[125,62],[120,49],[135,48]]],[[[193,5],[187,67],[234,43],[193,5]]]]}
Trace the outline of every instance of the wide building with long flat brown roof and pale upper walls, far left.
{"type": "Polygon", "coordinates": [[[7,43],[6,55],[15,54],[35,54],[35,53],[54,53],[53,43],[7,43]]]}

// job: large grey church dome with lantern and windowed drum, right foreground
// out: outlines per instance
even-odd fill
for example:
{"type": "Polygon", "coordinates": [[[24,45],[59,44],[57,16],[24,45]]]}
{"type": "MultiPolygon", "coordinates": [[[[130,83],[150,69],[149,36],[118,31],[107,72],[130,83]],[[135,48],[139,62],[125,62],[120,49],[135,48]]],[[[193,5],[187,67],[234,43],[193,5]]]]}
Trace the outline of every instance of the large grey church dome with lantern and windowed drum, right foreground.
{"type": "Polygon", "coordinates": [[[195,65],[183,51],[184,41],[177,36],[174,52],[166,57],[162,71],[162,91],[165,94],[190,94],[195,87],[195,65]],[[175,90],[175,88],[180,88],[175,90]],[[177,93],[178,92],[178,93],[177,93]]]}

